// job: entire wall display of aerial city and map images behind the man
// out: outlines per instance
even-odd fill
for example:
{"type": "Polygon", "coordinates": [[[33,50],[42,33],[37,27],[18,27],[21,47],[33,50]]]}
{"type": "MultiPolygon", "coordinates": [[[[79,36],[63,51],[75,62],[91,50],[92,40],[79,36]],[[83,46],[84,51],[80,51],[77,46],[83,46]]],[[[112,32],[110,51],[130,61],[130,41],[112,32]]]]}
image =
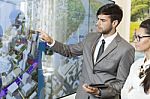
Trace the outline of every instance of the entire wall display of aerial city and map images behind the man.
{"type": "Polygon", "coordinates": [[[55,99],[76,92],[82,56],[66,58],[43,50],[35,30],[62,43],[80,42],[96,31],[96,11],[110,2],[0,0],[0,98],[55,99]]]}

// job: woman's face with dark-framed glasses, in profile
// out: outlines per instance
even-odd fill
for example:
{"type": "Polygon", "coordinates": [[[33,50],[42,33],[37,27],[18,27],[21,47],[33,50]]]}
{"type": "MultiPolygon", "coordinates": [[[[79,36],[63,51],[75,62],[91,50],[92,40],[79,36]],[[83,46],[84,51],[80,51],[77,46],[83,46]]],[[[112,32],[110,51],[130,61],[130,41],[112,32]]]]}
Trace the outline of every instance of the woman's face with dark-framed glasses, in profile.
{"type": "Polygon", "coordinates": [[[150,35],[146,34],[145,28],[139,28],[135,33],[135,48],[137,51],[150,51],[150,35]]]}

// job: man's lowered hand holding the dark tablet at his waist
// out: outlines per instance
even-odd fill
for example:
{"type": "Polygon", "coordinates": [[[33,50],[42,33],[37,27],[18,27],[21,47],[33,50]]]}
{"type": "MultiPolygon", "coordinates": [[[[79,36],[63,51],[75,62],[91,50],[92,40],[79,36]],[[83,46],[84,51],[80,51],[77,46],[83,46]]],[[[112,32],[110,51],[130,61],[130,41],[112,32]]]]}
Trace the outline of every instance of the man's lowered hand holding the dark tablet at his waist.
{"type": "Polygon", "coordinates": [[[83,89],[87,92],[87,93],[90,93],[90,94],[93,94],[93,95],[98,95],[100,94],[100,90],[96,87],[91,87],[87,84],[83,84],[83,89]]]}

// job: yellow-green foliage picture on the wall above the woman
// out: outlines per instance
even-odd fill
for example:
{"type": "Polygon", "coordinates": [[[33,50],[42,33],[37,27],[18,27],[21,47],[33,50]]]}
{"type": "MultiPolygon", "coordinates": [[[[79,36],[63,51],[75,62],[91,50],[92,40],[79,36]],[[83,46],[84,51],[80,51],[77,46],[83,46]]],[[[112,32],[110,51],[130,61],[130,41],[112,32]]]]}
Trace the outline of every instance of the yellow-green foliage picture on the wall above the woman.
{"type": "Polygon", "coordinates": [[[133,41],[134,31],[141,21],[150,18],[149,0],[131,0],[130,42],[133,41]]]}

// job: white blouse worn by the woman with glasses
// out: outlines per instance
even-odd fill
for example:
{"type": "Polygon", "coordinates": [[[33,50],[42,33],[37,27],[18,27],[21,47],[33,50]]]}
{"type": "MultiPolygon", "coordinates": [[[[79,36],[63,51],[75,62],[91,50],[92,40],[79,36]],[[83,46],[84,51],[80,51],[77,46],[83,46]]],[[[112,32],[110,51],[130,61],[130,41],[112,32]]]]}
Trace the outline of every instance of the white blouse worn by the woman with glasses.
{"type": "Polygon", "coordinates": [[[130,69],[129,76],[121,90],[121,99],[150,99],[150,94],[144,93],[144,88],[141,86],[143,78],[139,78],[140,67],[146,70],[150,66],[150,60],[144,63],[145,58],[135,61],[130,69]]]}

